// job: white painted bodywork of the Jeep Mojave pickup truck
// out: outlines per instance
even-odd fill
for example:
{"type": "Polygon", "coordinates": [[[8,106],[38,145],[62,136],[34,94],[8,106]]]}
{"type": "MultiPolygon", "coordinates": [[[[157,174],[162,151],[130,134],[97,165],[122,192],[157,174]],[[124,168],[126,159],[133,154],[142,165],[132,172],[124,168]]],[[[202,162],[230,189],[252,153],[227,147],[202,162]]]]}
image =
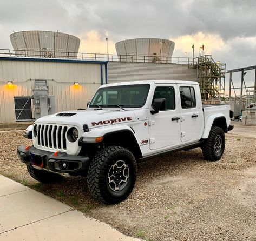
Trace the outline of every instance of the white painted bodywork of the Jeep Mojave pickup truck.
{"type": "MultiPolygon", "coordinates": [[[[67,146],[63,149],[42,145],[42,141],[41,144],[38,143],[38,137],[33,136],[34,146],[44,151],[62,151],[70,155],[78,155],[81,150],[81,147],[78,146],[78,140],[81,137],[91,139],[115,131],[129,130],[132,131],[137,140],[142,156],[147,157],[168,150],[178,149],[182,146],[186,147],[186,145],[207,138],[215,118],[224,117],[227,127],[230,124],[229,106],[202,106],[200,89],[197,82],[136,81],[108,84],[101,86],[99,89],[136,84],[150,85],[146,102],[140,108],[125,108],[122,110],[119,107],[103,109],[89,107],[86,110],[61,112],[64,116],[59,116],[57,113],[42,117],[34,125],[66,126],[67,130],[73,126],[78,129],[78,139],[76,142],[69,142],[66,134],[62,132],[67,140],[67,146]],[[175,107],[174,109],[159,111],[153,115],[150,111],[153,110],[153,96],[157,87],[172,88],[175,93],[175,107]],[[183,87],[191,87],[191,90],[194,90],[195,106],[193,108],[181,107],[180,88],[183,87]],[[74,115],[65,116],[65,113],[73,113],[74,115]],[[179,119],[172,121],[172,118],[176,117],[179,119]],[[90,131],[84,132],[84,124],[88,126],[90,131]]],[[[47,139],[50,137],[42,131],[41,138],[47,139]]],[[[43,143],[45,143],[45,140],[43,143]]]]}

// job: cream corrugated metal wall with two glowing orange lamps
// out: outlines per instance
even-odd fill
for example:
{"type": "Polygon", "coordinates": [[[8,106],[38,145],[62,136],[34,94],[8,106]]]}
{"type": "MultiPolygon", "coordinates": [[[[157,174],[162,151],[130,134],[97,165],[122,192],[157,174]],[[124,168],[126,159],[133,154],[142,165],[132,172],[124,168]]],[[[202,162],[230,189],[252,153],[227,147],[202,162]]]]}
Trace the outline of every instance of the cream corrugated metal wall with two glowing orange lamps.
{"type": "MultiPolygon", "coordinates": [[[[103,80],[104,75],[103,64],[103,80]]],[[[47,79],[49,95],[55,96],[56,112],[86,108],[101,85],[97,63],[64,63],[0,60],[0,124],[15,122],[14,96],[31,96],[35,79],[47,79]],[[7,81],[13,81],[12,86],[7,81]],[[79,86],[74,86],[78,81],[79,86]]]]}

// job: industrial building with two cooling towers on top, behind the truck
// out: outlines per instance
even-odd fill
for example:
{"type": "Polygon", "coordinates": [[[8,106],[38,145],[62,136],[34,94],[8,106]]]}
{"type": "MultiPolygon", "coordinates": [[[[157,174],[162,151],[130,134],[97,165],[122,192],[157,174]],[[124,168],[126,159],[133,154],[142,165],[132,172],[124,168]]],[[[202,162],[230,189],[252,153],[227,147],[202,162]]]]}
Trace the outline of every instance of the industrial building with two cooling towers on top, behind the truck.
{"type": "MultiPolygon", "coordinates": [[[[38,106],[34,95],[38,94],[40,81],[45,81],[43,89],[47,90],[49,100],[55,96],[56,112],[86,108],[102,84],[142,79],[198,81],[202,98],[206,101],[224,96],[225,64],[215,63],[212,56],[173,57],[174,42],[167,39],[128,39],[116,44],[117,55],[108,55],[77,53],[80,41],[69,45],[70,35],[57,32],[50,32],[50,35],[48,31],[19,33],[22,34],[10,36],[12,43],[16,44],[14,50],[0,52],[0,124],[20,121],[17,113],[20,114],[22,106],[16,103],[17,97],[31,99],[32,118],[36,117],[38,106]],[[60,36],[65,44],[57,44],[56,39],[60,36]],[[60,46],[64,45],[69,48],[61,49],[60,46]],[[57,57],[56,52],[60,52],[57,50],[62,51],[61,57],[57,57]],[[73,55],[70,55],[71,50],[73,55]]],[[[48,113],[51,108],[49,102],[48,113]]]]}

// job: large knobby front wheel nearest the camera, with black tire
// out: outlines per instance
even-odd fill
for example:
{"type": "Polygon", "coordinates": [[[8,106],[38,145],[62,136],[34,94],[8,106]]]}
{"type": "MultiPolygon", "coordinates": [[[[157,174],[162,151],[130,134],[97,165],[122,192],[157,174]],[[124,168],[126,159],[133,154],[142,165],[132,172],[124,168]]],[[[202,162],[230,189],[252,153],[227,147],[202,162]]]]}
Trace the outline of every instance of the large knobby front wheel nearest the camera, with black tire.
{"type": "Polygon", "coordinates": [[[116,204],[130,195],[136,176],[137,163],[132,152],[121,146],[108,146],[91,160],[87,183],[96,200],[116,204]]]}

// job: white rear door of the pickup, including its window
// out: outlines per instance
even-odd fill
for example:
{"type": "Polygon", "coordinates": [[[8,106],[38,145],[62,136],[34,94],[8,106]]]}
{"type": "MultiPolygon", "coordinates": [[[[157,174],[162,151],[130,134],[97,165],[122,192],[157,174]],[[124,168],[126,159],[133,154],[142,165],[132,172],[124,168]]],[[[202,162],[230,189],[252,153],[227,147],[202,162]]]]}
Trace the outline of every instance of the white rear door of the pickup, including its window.
{"type": "MultiPolygon", "coordinates": [[[[196,102],[195,85],[178,85],[180,92],[181,142],[194,142],[201,138],[204,115],[196,102]]],[[[199,94],[199,93],[198,93],[199,94]]]]}

